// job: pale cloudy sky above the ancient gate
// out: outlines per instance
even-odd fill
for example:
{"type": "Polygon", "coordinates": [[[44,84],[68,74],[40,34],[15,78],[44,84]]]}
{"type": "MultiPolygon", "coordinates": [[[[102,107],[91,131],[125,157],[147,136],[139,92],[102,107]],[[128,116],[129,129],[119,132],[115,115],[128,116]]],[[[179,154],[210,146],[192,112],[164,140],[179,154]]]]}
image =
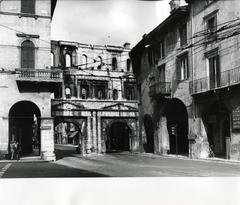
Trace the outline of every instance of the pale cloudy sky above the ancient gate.
{"type": "Polygon", "coordinates": [[[161,23],[169,0],[58,0],[52,39],[133,47],[144,33],[161,23]]]}

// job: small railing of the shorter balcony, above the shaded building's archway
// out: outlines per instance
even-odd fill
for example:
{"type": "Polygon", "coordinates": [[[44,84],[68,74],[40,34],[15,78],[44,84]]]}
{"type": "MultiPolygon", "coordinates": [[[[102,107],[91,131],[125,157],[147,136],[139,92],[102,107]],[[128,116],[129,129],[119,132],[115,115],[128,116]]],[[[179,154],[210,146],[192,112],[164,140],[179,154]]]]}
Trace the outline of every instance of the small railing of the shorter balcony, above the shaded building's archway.
{"type": "Polygon", "coordinates": [[[150,86],[149,95],[150,97],[156,95],[171,95],[171,88],[170,82],[157,82],[150,86]]]}

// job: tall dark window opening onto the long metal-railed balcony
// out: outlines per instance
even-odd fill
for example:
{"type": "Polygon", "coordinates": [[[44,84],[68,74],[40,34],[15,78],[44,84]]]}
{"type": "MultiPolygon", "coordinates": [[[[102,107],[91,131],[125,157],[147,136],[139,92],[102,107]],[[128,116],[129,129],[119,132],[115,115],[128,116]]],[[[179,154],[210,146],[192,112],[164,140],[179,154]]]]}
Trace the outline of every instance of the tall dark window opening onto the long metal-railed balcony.
{"type": "Polygon", "coordinates": [[[210,89],[217,88],[220,86],[219,56],[216,55],[209,57],[208,66],[209,66],[210,89]]]}

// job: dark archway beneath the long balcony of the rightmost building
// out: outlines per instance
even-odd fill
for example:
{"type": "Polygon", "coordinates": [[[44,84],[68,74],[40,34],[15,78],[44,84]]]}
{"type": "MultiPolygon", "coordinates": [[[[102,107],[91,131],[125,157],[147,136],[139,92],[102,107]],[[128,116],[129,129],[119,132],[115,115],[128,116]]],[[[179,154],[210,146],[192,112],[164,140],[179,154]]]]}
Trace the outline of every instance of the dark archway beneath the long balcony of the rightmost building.
{"type": "Polygon", "coordinates": [[[204,114],[208,142],[216,157],[226,158],[226,138],[230,137],[230,118],[227,107],[216,102],[204,114]]]}

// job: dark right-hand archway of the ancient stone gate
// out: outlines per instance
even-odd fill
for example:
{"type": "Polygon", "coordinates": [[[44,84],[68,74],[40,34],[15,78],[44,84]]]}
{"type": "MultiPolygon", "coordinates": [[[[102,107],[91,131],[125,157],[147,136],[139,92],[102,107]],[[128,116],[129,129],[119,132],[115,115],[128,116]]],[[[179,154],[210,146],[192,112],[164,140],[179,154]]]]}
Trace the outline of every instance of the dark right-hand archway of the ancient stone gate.
{"type": "Polygon", "coordinates": [[[112,151],[130,151],[130,134],[131,130],[125,122],[113,122],[106,128],[107,152],[112,151]]]}

